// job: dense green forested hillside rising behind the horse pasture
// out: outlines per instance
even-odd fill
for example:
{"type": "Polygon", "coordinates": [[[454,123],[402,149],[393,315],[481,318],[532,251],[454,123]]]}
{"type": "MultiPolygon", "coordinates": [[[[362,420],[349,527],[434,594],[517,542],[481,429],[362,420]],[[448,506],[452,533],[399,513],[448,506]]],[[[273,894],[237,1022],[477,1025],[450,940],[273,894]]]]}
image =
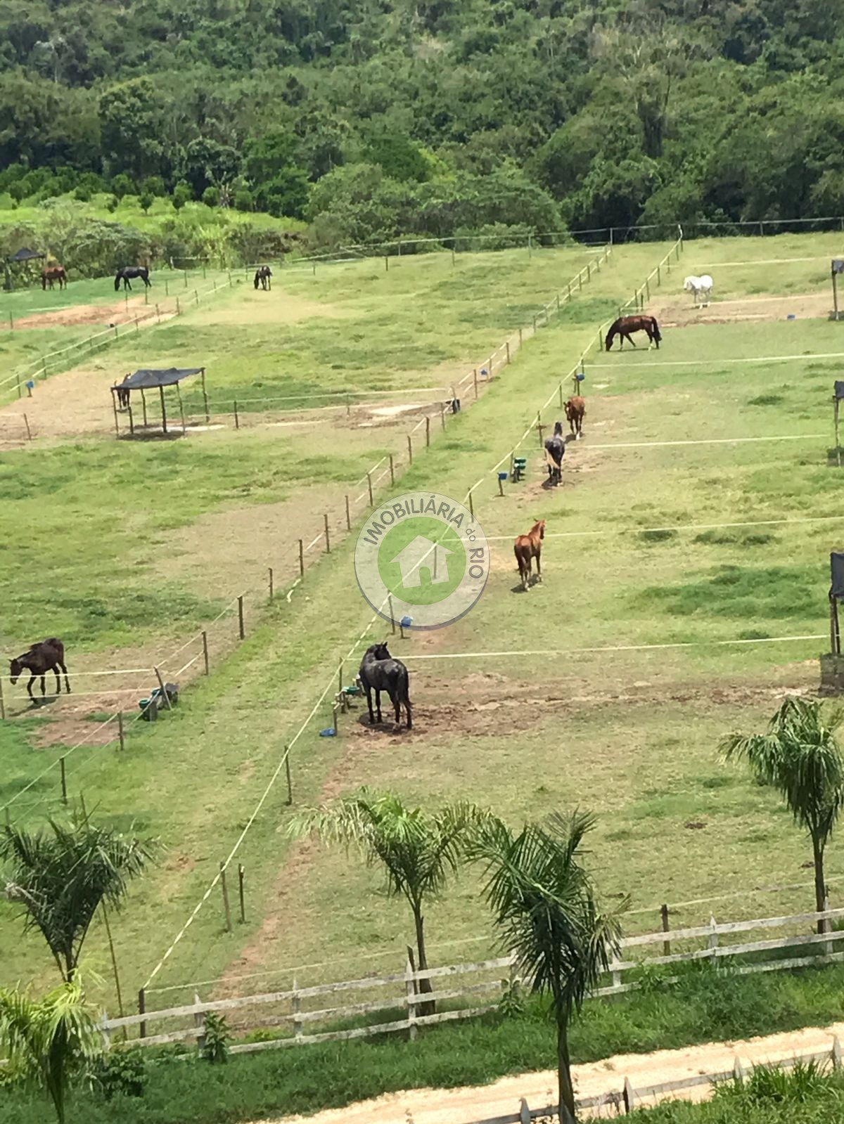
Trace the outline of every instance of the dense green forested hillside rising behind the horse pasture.
{"type": "Polygon", "coordinates": [[[843,60],[844,0],[2,0],[0,191],[323,243],[839,215],[843,60]]]}

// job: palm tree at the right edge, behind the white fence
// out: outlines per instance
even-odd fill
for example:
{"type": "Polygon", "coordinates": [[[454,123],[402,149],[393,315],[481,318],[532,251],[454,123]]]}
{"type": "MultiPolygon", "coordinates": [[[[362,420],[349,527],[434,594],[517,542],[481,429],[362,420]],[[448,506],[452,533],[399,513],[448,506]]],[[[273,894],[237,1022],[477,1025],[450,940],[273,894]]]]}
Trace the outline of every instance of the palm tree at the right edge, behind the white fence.
{"type": "MultiPolygon", "coordinates": [[[[818,913],[826,903],[824,851],[844,803],[844,756],[835,738],[843,720],[841,710],[825,720],[820,703],[791,697],[766,734],[730,734],[720,745],[725,760],[745,760],[757,781],[778,789],[794,822],[808,831],[818,913]]],[[[824,930],[818,922],[818,933],[824,930]]]]}

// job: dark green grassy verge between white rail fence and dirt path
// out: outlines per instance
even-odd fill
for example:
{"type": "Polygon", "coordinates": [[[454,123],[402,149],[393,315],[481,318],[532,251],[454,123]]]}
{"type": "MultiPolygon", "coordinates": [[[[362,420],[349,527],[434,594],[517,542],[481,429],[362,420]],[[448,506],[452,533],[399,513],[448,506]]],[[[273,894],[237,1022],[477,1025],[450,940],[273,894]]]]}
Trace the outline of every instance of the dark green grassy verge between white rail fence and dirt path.
{"type": "MultiPolygon", "coordinates": [[[[676,986],[661,985],[656,975],[643,982],[641,991],[584,1007],[571,1030],[574,1062],[823,1025],[839,1015],[844,969],[725,979],[724,972],[704,964],[688,971],[676,986]]],[[[413,1043],[392,1034],[236,1054],[225,1066],[209,1066],[197,1051],[186,1057],[153,1046],[141,1053],[140,1070],[136,1061],[123,1064],[109,1054],[110,1080],[102,1082],[104,1068],[98,1067],[93,1091],[74,1097],[69,1124],[235,1124],[316,1112],[397,1089],[482,1085],[553,1066],[554,1039],[545,1006],[531,998],[514,1017],[501,1013],[445,1023],[421,1030],[413,1043]]],[[[608,1089],[621,1082],[622,1076],[607,1071],[608,1089]]],[[[43,1124],[44,1118],[37,1095],[0,1085],[0,1124],[43,1124]]],[[[745,1117],[712,1117],[718,1124],[728,1120],[745,1117]]],[[[747,1117],[753,1124],[763,1120],[747,1117]]],[[[791,1124],[798,1117],[783,1116],[783,1124],[785,1120],[791,1124]]]]}

